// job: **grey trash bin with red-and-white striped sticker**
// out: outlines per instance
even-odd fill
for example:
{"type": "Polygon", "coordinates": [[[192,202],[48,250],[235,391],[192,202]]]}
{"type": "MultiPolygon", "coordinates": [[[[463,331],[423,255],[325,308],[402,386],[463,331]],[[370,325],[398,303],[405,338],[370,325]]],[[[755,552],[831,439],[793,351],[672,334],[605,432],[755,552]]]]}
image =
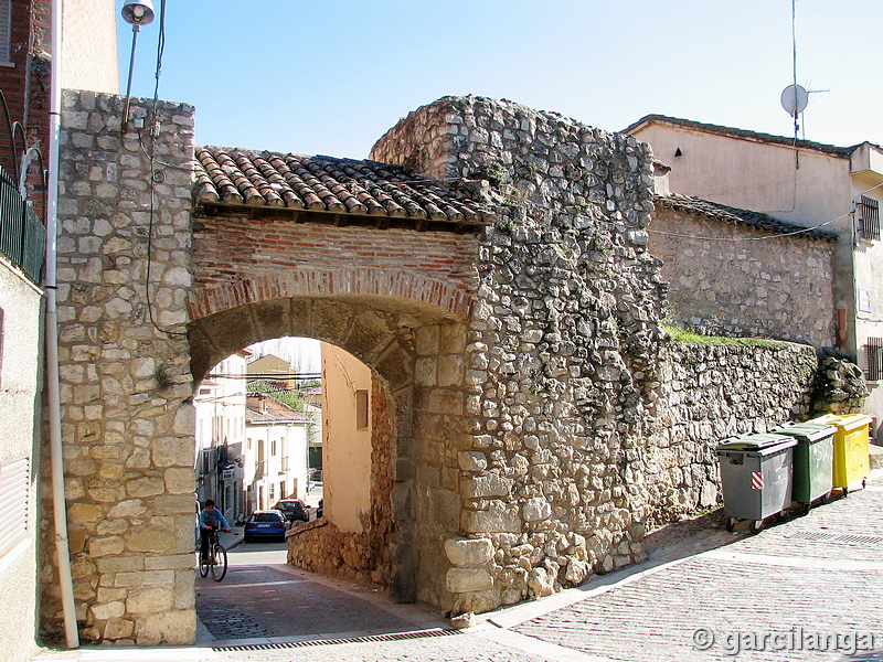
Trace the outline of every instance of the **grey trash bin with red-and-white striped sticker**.
{"type": "Polygon", "coordinates": [[[797,440],[786,435],[754,434],[730,437],[717,445],[726,530],[736,520],[751,520],[752,533],[770,515],[781,516],[791,505],[791,472],[797,440]]]}

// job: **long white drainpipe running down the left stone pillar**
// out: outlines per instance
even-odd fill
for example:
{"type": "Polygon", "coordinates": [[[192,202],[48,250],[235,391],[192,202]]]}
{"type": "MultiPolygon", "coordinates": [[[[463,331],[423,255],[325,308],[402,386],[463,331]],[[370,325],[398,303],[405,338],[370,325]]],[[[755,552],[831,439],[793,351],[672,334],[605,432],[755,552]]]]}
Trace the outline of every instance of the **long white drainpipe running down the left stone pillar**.
{"type": "Polygon", "coordinates": [[[62,109],[62,0],[52,0],[52,73],[49,114],[49,191],[46,201],[46,399],[49,403],[49,440],[52,457],[52,510],[55,514],[55,553],[58,584],[64,611],[64,633],[68,649],[79,647],[74,602],[74,579],[71,574],[71,551],[67,544],[67,510],[64,496],[64,459],[62,451],[62,407],[58,380],[58,310],[56,291],[58,234],[58,135],[62,109]]]}

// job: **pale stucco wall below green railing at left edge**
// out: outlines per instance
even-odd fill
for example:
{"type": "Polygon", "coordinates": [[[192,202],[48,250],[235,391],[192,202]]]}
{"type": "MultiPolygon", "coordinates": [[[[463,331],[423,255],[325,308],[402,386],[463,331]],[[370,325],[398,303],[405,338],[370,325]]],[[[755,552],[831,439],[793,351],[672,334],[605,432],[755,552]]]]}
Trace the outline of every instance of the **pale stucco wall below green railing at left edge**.
{"type": "Polygon", "coordinates": [[[28,458],[31,466],[26,537],[0,556],[0,595],[8,598],[0,612],[0,647],[9,662],[30,660],[34,652],[42,308],[42,292],[0,257],[0,462],[28,458]]]}

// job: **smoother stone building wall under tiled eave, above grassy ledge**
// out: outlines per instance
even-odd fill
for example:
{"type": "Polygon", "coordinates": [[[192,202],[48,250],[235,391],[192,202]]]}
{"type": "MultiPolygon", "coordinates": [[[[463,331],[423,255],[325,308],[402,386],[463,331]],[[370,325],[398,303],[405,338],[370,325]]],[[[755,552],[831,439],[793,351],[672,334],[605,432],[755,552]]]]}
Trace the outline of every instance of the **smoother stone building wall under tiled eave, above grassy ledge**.
{"type": "Polygon", "coordinates": [[[708,335],[834,345],[836,244],[769,234],[658,205],[649,248],[669,284],[668,318],[708,335]]]}

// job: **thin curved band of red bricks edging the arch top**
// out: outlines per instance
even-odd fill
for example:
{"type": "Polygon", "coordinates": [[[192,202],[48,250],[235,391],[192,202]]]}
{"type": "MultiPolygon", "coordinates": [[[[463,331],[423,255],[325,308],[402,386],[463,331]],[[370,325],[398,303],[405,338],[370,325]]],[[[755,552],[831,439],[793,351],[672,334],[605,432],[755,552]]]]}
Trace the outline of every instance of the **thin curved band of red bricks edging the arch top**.
{"type": "Polygon", "coordinates": [[[270,299],[353,295],[407,301],[419,309],[444,311],[444,317],[467,319],[474,300],[474,292],[462,284],[450,285],[419,274],[376,267],[287,268],[275,274],[238,276],[215,286],[201,284],[196,273],[188,305],[191,320],[270,299]]]}

